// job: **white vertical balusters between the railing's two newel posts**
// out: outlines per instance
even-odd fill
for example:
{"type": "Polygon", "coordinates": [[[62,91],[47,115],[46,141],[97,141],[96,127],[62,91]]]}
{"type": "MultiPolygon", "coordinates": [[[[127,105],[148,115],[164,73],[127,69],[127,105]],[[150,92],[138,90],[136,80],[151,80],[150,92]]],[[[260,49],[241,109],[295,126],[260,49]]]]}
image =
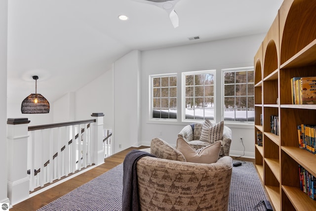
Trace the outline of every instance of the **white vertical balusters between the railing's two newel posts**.
{"type": "Polygon", "coordinates": [[[71,126],[29,127],[32,142],[28,169],[34,169],[34,173],[29,171],[30,191],[93,165],[89,145],[90,124],[94,121],[74,122],[71,126]]]}

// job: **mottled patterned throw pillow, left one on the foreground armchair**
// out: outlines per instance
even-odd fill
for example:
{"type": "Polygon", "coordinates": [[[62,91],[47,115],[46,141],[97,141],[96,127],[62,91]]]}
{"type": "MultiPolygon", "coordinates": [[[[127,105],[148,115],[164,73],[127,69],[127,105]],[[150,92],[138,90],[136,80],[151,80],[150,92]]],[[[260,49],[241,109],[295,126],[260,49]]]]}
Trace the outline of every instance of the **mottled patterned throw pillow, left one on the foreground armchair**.
{"type": "Polygon", "coordinates": [[[177,149],[160,138],[154,138],[150,145],[151,154],[157,158],[186,162],[185,157],[177,149]]]}

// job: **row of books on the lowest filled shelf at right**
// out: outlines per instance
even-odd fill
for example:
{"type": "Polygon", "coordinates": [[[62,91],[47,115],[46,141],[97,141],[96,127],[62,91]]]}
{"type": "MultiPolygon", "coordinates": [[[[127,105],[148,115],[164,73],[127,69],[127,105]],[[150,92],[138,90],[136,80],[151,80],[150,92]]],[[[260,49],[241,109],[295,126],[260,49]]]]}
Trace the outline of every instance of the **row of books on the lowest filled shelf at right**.
{"type": "Polygon", "coordinates": [[[316,200],[316,177],[302,166],[298,166],[300,176],[300,188],[310,198],[316,200]]]}

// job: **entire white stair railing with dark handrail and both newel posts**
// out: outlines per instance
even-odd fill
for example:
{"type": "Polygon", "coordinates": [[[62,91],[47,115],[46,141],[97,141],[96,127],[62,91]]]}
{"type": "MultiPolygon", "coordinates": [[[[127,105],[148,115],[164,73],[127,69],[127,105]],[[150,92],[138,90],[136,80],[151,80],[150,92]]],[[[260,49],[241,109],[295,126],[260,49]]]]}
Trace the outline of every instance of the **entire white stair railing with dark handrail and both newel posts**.
{"type": "Polygon", "coordinates": [[[8,119],[8,154],[14,156],[8,164],[11,205],[25,200],[29,191],[104,163],[104,115],[91,116],[96,119],[31,127],[27,127],[27,118],[8,119]],[[18,169],[21,173],[17,176],[14,172],[18,169]],[[29,183],[28,189],[25,181],[29,183]]]}

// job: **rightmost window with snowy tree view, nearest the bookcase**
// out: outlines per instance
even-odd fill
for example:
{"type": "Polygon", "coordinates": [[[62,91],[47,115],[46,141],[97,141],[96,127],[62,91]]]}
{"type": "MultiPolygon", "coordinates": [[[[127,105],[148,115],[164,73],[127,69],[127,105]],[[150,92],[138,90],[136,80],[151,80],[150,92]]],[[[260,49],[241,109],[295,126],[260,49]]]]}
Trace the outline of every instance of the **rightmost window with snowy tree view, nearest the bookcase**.
{"type": "Polygon", "coordinates": [[[227,69],[224,74],[224,120],[254,121],[253,68],[227,69]]]}

